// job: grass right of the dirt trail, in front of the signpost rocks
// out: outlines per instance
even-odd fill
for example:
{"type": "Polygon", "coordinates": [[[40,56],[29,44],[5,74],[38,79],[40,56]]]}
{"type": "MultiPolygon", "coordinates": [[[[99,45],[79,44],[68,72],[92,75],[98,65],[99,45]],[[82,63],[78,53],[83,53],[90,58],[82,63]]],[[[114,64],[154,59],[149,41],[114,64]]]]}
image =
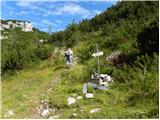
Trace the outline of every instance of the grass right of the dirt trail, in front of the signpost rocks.
{"type": "MultiPolygon", "coordinates": [[[[79,66],[71,71],[79,71],[79,66]]],[[[79,74],[75,72],[76,75],[79,74]]],[[[93,99],[80,99],[75,105],[67,106],[69,96],[74,98],[79,95],[83,96],[82,86],[83,82],[74,82],[72,79],[62,77],[61,83],[50,93],[51,107],[58,108],[56,114],[60,114],[60,118],[148,118],[150,110],[156,106],[149,100],[140,100],[136,105],[129,105],[130,90],[126,84],[112,84],[108,91],[90,88],[89,92],[94,94],[93,99]],[[97,113],[89,113],[94,108],[101,108],[101,110],[97,113]],[[73,116],[73,113],[76,113],[77,116],[73,116]]]]}

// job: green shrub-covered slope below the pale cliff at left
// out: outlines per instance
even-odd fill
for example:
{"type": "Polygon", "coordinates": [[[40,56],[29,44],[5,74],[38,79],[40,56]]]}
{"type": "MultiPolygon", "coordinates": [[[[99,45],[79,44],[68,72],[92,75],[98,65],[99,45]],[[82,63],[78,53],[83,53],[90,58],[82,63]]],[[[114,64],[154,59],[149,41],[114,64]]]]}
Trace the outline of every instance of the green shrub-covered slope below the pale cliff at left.
{"type": "Polygon", "coordinates": [[[48,39],[49,35],[35,28],[33,32],[23,32],[20,28],[4,30],[2,36],[2,75],[34,65],[48,58],[53,51],[52,45],[39,42],[48,39]]]}

